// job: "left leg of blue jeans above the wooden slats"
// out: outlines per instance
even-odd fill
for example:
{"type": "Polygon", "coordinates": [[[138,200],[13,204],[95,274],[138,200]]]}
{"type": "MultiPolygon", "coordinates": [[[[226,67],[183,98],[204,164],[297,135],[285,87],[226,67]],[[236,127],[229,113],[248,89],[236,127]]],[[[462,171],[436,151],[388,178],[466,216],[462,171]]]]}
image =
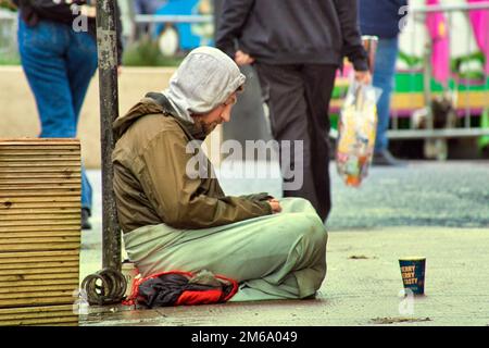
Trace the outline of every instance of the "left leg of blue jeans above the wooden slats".
{"type": "Polygon", "coordinates": [[[65,25],[41,21],[29,27],[18,20],[21,62],[36,99],[41,138],[76,136],[65,62],[67,44],[65,25]]]}

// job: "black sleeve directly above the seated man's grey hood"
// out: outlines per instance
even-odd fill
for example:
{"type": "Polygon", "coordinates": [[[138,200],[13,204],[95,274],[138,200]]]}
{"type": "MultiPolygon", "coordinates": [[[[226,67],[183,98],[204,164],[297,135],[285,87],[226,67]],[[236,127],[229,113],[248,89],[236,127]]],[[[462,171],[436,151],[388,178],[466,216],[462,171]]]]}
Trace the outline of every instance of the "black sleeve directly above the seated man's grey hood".
{"type": "Polygon", "coordinates": [[[236,40],[241,36],[254,0],[226,0],[217,27],[215,47],[235,59],[236,40]]]}

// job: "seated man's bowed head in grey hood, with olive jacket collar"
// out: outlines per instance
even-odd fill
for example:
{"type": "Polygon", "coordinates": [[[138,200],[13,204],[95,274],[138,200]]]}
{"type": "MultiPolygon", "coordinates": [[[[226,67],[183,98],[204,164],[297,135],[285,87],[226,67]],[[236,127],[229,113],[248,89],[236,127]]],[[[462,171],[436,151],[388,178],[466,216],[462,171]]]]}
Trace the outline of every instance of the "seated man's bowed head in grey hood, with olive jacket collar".
{"type": "Polygon", "coordinates": [[[162,94],[149,92],[114,124],[114,136],[123,134],[147,114],[172,115],[198,138],[205,138],[217,124],[229,121],[236,94],[246,77],[225,53],[211,47],[192,50],[162,94]]]}

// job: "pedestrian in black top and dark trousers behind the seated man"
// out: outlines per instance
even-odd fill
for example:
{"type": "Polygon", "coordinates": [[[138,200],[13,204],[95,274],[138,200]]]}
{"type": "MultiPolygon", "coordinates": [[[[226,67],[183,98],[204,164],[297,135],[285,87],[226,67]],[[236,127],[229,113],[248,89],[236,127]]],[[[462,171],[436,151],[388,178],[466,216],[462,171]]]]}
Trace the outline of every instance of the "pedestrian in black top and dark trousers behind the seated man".
{"type": "Polygon", "coordinates": [[[308,199],[325,221],[331,208],[328,108],[343,57],[359,80],[369,82],[358,1],[226,0],[216,47],[256,69],[272,134],[281,145],[284,197],[308,199]],[[302,186],[289,189],[297,169],[302,186]]]}

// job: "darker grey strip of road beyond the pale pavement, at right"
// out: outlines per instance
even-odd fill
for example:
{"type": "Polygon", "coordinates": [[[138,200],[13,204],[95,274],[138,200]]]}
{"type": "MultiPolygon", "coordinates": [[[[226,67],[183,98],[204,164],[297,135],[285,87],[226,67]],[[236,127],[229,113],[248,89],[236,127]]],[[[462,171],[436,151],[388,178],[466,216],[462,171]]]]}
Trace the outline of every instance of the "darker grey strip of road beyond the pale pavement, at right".
{"type": "Polygon", "coordinates": [[[489,227],[489,161],[372,167],[360,189],[346,187],[334,173],[333,204],[329,231],[489,227]]]}

